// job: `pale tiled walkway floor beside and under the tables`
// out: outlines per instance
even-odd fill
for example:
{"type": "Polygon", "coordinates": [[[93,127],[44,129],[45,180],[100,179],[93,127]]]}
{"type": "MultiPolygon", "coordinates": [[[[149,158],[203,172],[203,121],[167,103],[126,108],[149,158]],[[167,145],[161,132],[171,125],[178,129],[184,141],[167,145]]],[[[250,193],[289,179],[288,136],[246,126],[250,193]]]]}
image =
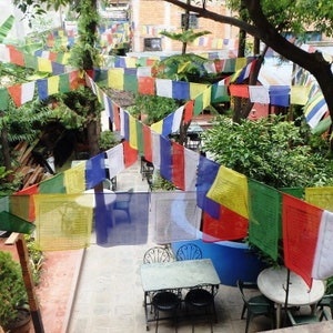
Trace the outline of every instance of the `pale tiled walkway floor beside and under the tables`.
{"type": "MultiPolygon", "coordinates": [[[[139,165],[118,176],[119,189],[133,188],[147,191],[139,165]]],[[[150,239],[150,236],[149,236],[150,239]]],[[[85,250],[82,272],[69,325],[69,333],[143,333],[145,317],[140,265],[152,242],[132,246],[102,248],[93,244],[85,250]]],[[[218,323],[214,332],[241,333],[245,320],[241,320],[242,299],[236,287],[221,285],[215,299],[218,323]]],[[[270,321],[255,319],[249,333],[269,330],[270,321]]],[[[150,331],[154,324],[150,324],[150,331]]],[[[174,332],[172,323],[162,322],[159,332],[174,332]]],[[[189,321],[180,321],[180,333],[191,332],[189,321]]],[[[195,324],[195,332],[210,332],[209,322],[195,324]]]]}

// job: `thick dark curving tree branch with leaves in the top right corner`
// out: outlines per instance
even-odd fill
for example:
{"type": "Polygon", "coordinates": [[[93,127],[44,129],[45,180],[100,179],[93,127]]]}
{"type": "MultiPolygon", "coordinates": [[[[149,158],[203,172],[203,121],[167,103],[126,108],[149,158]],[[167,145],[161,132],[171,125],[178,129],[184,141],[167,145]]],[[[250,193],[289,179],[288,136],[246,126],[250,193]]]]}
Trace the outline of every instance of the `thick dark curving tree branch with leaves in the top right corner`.
{"type": "MultiPolygon", "coordinates": [[[[246,9],[251,23],[235,17],[218,14],[202,6],[184,3],[181,0],[164,0],[202,18],[235,26],[246,33],[259,38],[279,54],[307,70],[316,79],[325,98],[331,119],[333,119],[333,73],[331,63],[319,51],[309,53],[289,41],[285,32],[301,33],[312,26],[326,36],[333,34],[333,3],[321,0],[242,0],[229,1],[246,9]]],[[[198,1],[194,1],[198,3],[198,1]]]]}

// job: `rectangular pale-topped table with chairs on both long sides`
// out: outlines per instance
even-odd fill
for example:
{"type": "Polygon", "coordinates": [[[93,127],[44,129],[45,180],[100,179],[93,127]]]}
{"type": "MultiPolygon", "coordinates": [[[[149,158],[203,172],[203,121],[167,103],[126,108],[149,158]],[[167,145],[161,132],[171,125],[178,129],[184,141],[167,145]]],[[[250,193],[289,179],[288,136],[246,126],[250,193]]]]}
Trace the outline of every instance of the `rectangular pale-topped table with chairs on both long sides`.
{"type": "MultiPolygon", "coordinates": [[[[141,282],[144,291],[145,321],[148,319],[149,293],[168,289],[189,289],[198,284],[219,287],[219,274],[210,259],[149,263],[141,265],[141,282]]],[[[148,327],[148,326],[147,326],[148,327]]]]}

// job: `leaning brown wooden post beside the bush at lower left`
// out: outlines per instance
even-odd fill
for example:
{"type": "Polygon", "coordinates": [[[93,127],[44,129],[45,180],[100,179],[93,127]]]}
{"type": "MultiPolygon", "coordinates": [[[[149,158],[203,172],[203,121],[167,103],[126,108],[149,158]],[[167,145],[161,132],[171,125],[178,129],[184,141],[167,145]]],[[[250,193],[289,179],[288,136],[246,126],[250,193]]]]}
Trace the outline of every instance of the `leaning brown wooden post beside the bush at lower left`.
{"type": "Polygon", "coordinates": [[[30,313],[33,322],[33,327],[36,333],[44,333],[40,311],[38,307],[38,302],[34,293],[34,285],[32,280],[31,270],[29,266],[29,255],[28,255],[28,248],[26,244],[26,239],[23,234],[20,234],[17,240],[17,250],[20,258],[21,269],[22,269],[22,275],[23,281],[28,294],[28,301],[29,301],[29,307],[30,313]]]}

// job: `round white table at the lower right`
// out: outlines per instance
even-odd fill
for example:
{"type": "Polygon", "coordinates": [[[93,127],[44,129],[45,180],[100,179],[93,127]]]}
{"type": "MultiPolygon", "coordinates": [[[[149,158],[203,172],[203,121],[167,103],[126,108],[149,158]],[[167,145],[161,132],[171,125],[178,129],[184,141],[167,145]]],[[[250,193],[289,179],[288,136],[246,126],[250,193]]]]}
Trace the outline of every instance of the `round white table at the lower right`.
{"type": "MultiPolygon", "coordinates": [[[[258,287],[268,299],[276,304],[276,327],[281,326],[281,309],[285,303],[287,270],[285,268],[270,268],[258,276],[258,287]]],[[[324,295],[325,284],[321,280],[313,280],[312,287],[304,280],[290,272],[287,305],[315,305],[324,295]]]]}

